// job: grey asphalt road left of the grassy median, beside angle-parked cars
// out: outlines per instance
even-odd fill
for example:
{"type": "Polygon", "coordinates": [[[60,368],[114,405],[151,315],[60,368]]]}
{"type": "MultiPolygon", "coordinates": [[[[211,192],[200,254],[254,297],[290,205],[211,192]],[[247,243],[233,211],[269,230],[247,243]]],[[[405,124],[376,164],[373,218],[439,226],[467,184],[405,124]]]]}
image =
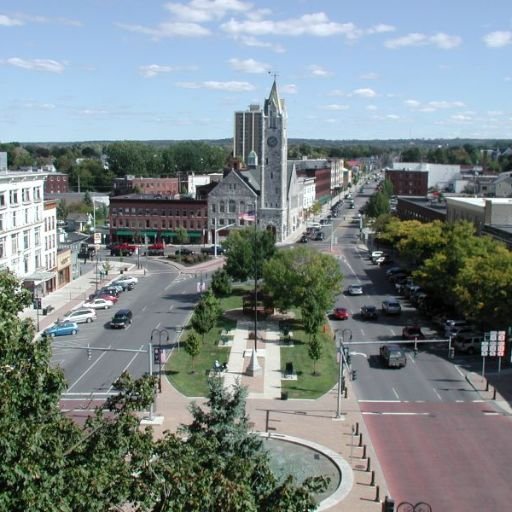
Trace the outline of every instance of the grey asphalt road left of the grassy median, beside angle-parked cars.
{"type": "MultiPolygon", "coordinates": [[[[69,383],[65,398],[114,392],[112,383],[124,370],[134,377],[147,373],[149,359],[153,359],[148,354],[153,329],[166,329],[161,340],[165,350],[176,342],[177,328],[186,325],[197,301],[197,284],[201,278],[206,280],[207,274],[180,273],[158,261],[147,261],[145,266],[147,275],[139,278],[134,290],[122,293],[113,308],[97,311],[97,320],[81,324],[76,336],[55,338],[53,361],[64,369],[69,383]],[[110,329],[110,319],[122,308],[132,310],[132,325],[127,329],[110,329]],[[90,358],[87,347],[91,348],[90,358]]],[[[155,333],[153,344],[159,341],[155,333]]]]}

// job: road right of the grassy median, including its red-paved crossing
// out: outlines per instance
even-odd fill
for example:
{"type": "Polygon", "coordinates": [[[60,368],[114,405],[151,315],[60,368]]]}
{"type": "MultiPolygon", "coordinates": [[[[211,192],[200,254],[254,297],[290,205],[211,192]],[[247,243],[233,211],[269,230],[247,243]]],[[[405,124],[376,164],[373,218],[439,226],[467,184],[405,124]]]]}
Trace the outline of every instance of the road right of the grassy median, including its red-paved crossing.
{"type": "MultiPolygon", "coordinates": [[[[356,198],[356,212],[359,207],[356,198]]],[[[465,371],[481,369],[481,358],[448,359],[447,346],[439,344],[420,345],[414,358],[412,346],[405,345],[406,368],[384,368],[379,344],[401,342],[402,327],[421,317],[400,298],[398,318],[359,318],[363,304],[380,307],[394,290],[358,243],[357,222],[341,221],[335,229],[344,285],[362,284],[364,295],[340,295],[336,305],[352,317],[332,325],[352,332],[352,385],[391,495],[396,503],[425,501],[436,512],[510,509],[510,417],[481,400],[465,378],[465,371]],[[369,340],[377,343],[357,343],[369,340]]]]}

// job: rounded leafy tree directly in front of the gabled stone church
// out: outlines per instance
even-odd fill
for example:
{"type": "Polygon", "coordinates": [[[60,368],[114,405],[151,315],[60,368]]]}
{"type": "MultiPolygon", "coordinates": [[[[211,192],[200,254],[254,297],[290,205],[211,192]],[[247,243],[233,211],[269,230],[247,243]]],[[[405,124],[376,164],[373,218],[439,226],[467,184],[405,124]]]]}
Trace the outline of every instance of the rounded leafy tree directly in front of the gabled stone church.
{"type": "Polygon", "coordinates": [[[276,252],[273,233],[253,227],[231,232],[223,245],[227,254],[224,268],[237,281],[261,277],[264,262],[276,252]]]}

